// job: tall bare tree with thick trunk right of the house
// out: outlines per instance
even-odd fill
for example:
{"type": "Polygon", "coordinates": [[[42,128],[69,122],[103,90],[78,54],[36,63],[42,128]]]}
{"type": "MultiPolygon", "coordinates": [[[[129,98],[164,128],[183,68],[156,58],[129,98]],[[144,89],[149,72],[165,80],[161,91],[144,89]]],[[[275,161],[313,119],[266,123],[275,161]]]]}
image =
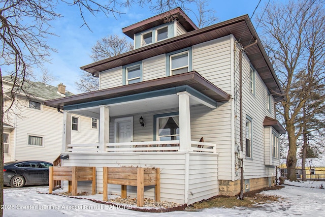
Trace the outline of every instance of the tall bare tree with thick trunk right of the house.
{"type": "Polygon", "coordinates": [[[301,112],[325,69],[324,12],[318,1],[299,0],[266,6],[265,13],[257,18],[265,35],[265,48],[284,89],[285,100],[278,112],[287,131],[287,177],[291,181],[297,180],[297,139],[304,129],[301,112]]]}

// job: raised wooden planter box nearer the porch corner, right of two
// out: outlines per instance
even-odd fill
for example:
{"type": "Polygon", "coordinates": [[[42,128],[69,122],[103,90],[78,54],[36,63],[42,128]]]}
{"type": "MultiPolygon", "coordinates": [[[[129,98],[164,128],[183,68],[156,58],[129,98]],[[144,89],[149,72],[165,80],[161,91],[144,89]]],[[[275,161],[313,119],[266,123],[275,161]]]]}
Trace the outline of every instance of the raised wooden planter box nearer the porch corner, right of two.
{"type": "Polygon", "coordinates": [[[107,201],[107,184],[121,184],[121,198],[126,185],[137,186],[137,206],[143,206],[144,187],[155,185],[155,201],[160,202],[160,169],[140,167],[103,167],[103,200],[107,201]]]}

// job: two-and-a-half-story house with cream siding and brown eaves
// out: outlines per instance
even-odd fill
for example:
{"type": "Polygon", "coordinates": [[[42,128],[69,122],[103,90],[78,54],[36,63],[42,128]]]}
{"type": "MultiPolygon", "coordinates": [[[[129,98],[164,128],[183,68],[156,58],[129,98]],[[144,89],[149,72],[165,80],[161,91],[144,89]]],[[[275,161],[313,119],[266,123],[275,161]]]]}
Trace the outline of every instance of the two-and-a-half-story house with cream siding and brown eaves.
{"type": "Polygon", "coordinates": [[[70,145],[66,129],[63,164],[95,166],[98,192],[104,166],[158,167],[161,200],[181,204],[238,194],[242,167],[244,191],[274,184],[283,91],[249,17],[198,29],[176,8],[122,30],[133,51],[81,67],[100,90],[45,102],[67,126],[74,114],[100,119],[98,144],[70,145]]]}

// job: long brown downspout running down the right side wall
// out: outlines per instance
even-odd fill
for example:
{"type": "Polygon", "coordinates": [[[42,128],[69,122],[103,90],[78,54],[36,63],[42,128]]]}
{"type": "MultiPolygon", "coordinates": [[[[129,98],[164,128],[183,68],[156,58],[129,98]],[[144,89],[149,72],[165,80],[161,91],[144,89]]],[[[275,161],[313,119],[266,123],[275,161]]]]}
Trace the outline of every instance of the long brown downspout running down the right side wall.
{"type": "MultiPolygon", "coordinates": [[[[239,51],[239,116],[240,116],[240,147],[243,150],[243,87],[242,87],[242,52],[248,47],[257,43],[257,39],[252,44],[243,47],[239,51]]],[[[240,195],[239,199],[244,199],[244,162],[242,160],[242,167],[240,168],[240,195]]]]}

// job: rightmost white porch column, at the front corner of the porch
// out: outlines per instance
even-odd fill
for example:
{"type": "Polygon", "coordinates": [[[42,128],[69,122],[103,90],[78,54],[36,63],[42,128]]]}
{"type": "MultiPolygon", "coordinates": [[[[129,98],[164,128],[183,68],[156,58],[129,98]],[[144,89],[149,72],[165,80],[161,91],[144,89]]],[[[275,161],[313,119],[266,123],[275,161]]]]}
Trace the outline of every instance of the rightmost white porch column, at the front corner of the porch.
{"type": "Polygon", "coordinates": [[[178,92],[179,106],[179,150],[188,151],[191,149],[191,122],[189,115],[188,92],[178,92]]]}

